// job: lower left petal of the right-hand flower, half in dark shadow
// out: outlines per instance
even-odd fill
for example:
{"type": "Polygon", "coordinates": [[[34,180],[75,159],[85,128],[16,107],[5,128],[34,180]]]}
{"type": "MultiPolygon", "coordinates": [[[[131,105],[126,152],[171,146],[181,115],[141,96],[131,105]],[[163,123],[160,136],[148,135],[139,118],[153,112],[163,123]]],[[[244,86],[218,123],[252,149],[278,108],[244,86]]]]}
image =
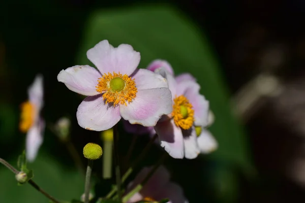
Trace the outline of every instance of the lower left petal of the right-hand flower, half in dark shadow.
{"type": "Polygon", "coordinates": [[[161,147],[173,158],[184,157],[184,141],[182,131],[173,120],[158,122],[155,130],[159,136],[161,147]]]}

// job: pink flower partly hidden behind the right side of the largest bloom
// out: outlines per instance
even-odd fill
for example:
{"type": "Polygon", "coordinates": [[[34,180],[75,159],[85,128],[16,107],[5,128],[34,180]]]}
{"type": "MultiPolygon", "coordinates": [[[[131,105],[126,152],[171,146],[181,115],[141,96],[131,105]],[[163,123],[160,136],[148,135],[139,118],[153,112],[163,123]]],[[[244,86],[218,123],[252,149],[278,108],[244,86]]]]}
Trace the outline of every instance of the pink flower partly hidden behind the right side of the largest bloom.
{"type": "MultiPolygon", "coordinates": [[[[155,60],[151,66],[160,63],[155,60]]],[[[147,68],[150,69],[150,66],[147,68]]],[[[171,71],[173,73],[173,71],[171,71]]],[[[161,146],[174,158],[193,159],[200,153],[195,126],[207,126],[209,103],[199,94],[200,86],[190,74],[174,78],[164,67],[155,69],[168,81],[173,111],[157,123],[155,130],[161,146]]]]}

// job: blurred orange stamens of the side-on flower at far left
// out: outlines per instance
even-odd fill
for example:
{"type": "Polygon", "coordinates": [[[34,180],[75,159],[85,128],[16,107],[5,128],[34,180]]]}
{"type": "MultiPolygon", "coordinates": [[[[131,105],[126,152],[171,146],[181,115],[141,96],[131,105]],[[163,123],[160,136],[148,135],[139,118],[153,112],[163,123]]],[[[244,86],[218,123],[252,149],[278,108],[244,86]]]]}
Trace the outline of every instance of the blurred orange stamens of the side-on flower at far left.
{"type": "Polygon", "coordinates": [[[19,129],[21,132],[27,132],[33,126],[35,116],[35,107],[29,101],[21,104],[21,115],[19,129]]]}

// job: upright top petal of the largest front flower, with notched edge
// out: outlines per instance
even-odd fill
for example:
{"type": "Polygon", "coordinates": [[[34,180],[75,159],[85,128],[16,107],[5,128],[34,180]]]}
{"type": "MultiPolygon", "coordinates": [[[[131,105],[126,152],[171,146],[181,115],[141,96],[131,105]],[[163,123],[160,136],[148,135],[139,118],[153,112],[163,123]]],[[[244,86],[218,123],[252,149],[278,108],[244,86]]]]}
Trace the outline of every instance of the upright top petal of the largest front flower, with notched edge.
{"type": "Polygon", "coordinates": [[[118,73],[131,75],[139,65],[141,56],[128,44],[113,48],[107,40],[99,42],[87,51],[88,59],[93,62],[102,74],[118,73]]]}

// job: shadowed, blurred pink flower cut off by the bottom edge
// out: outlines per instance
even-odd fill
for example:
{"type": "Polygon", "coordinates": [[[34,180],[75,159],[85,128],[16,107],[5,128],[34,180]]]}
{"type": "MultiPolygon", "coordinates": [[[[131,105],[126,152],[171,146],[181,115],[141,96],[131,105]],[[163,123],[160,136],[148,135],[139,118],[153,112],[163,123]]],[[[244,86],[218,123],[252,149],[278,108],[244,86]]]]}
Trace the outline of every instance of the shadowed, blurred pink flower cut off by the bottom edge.
{"type": "MultiPolygon", "coordinates": [[[[136,176],[135,180],[127,187],[127,192],[130,192],[138,184],[140,184],[147,176],[152,167],[144,167],[136,176]]],[[[188,200],[184,196],[182,188],[173,182],[170,182],[170,174],[164,166],[159,166],[158,170],[146,182],[143,188],[134,194],[128,202],[143,201],[160,201],[169,199],[171,203],[186,203],[188,200]]]]}

